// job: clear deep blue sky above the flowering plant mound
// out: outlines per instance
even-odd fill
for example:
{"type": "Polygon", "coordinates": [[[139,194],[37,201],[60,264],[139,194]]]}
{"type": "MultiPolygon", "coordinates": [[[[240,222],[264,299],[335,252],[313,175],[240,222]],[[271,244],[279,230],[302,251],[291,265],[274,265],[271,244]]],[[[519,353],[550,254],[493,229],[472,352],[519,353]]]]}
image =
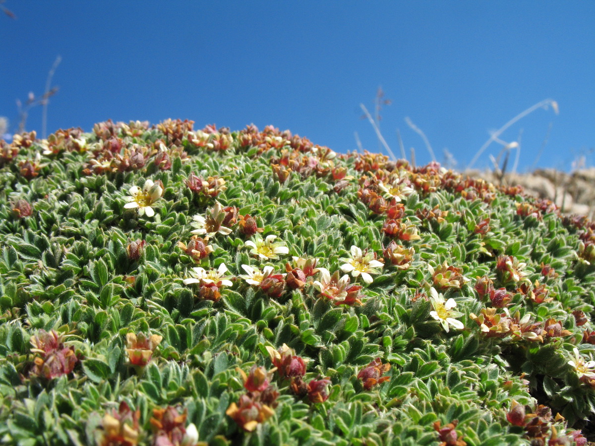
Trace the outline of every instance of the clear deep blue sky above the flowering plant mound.
{"type": "MultiPolygon", "coordinates": [[[[191,119],[240,130],[273,124],[338,152],[378,152],[370,111],[379,86],[392,104],[381,130],[396,129],[418,164],[446,147],[468,164],[490,130],[552,98],[502,134],[522,131],[519,170],[595,164],[595,2],[550,1],[101,1],[7,0],[0,16],[0,115],[17,124],[15,99],[52,84],[48,130],[93,123],[191,119]],[[551,129],[549,131],[549,128],[551,129]]],[[[28,130],[41,130],[41,108],[28,130]]],[[[13,127],[14,128],[14,127],[13,127]]],[[[490,165],[493,143],[476,163],[490,165]]]]}

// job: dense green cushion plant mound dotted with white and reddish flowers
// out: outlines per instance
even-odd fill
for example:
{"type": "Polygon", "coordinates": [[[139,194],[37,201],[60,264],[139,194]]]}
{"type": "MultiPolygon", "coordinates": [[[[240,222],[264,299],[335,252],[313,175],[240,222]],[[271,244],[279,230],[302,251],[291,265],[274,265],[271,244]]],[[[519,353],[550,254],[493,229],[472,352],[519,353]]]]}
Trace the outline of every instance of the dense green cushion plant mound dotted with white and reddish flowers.
{"type": "Polygon", "coordinates": [[[594,230],[273,127],[15,136],[0,442],[585,444],[594,230]]]}

